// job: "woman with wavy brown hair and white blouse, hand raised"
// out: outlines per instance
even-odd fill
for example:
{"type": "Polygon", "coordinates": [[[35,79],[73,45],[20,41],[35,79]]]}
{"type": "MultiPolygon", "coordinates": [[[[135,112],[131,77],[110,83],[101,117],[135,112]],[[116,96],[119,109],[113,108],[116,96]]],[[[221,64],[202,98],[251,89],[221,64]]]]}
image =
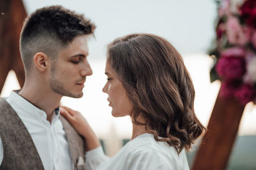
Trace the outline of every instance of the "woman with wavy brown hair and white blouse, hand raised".
{"type": "Polygon", "coordinates": [[[102,90],[108,94],[112,115],[131,117],[132,138],[107,160],[86,120],[65,108],[61,113],[84,136],[90,150],[86,167],[189,169],[184,150],[191,148],[205,127],[196,118],[195,90],[177,50],[152,34],[115,39],[108,46],[106,75],[102,90]]]}

